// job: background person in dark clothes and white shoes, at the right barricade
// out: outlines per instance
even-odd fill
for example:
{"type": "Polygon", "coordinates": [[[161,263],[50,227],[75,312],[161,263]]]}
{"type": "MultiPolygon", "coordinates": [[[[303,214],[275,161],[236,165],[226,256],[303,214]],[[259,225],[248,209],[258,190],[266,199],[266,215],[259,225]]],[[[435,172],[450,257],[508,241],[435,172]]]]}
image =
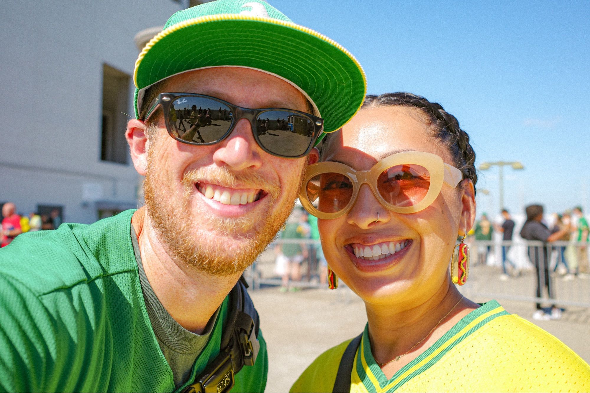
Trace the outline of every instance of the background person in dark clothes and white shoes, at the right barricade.
{"type": "MultiPolygon", "coordinates": [[[[560,239],[568,229],[562,229],[558,232],[551,233],[549,228],[542,223],[543,220],[543,206],[540,204],[532,204],[527,206],[526,209],[526,222],[520,230],[520,236],[525,240],[531,240],[536,242],[550,243],[560,239]]],[[[546,244],[543,246],[529,246],[528,254],[530,262],[535,265],[537,270],[537,298],[540,298],[543,292],[543,288],[547,289],[550,299],[555,299],[553,294],[553,286],[551,283],[551,277],[549,276],[549,250],[546,244]]],[[[560,319],[561,309],[551,305],[550,312],[546,312],[542,308],[541,303],[536,303],[537,310],[533,313],[533,319],[547,320],[547,319],[560,319]]]]}

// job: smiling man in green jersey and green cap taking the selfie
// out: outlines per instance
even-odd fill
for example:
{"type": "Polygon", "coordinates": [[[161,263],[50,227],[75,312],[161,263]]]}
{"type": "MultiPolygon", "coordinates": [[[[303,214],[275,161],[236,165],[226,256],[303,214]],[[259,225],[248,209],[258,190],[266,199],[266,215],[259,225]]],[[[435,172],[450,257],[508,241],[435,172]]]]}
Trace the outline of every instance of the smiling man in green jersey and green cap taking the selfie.
{"type": "Polygon", "coordinates": [[[219,0],[172,15],[134,81],[125,136],[145,206],[0,250],[0,391],[264,391],[240,278],[289,216],[323,132],[358,110],[362,68],[266,2],[219,0]],[[232,122],[185,141],[172,103],[222,105],[232,122]],[[312,131],[261,140],[268,111],[312,131]]]}

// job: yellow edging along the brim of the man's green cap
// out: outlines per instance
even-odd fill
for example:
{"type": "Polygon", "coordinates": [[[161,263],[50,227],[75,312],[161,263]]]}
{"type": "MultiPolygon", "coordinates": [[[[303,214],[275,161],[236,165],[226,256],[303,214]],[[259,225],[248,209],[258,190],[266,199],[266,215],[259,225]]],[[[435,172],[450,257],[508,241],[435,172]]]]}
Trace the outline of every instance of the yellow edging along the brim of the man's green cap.
{"type": "MultiPolygon", "coordinates": [[[[355,113],[353,113],[353,115],[349,118],[349,120],[346,121],[346,123],[342,124],[342,126],[340,126],[340,128],[342,128],[343,126],[345,126],[345,124],[347,124],[350,121],[350,119],[352,119],[352,117],[359,111],[360,107],[362,107],[362,104],[363,104],[363,101],[364,101],[364,97],[366,95],[366,89],[367,89],[367,87],[366,87],[367,86],[366,75],[365,75],[365,71],[363,70],[363,67],[360,65],[360,63],[358,62],[358,60],[356,60],[356,58],[354,57],[354,55],[348,51],[348,49],[346,49],[342,45],[338,44],[332,38],[326,37],[322,33],[319,33],[319,32],[317,32],[317,31],[315,31],[313,29],[310,29],[310,28],[307,28],[307,27],[304,27],[304,26],[301,26],[301,25],[294,24],[293,22],[280,21],[279,19],[265,18],[263,16],[251,16],[251,15],[240,15],[240,14],[207,15],[207,16],[200,16],[199,18],[187,19],[186,21],[178,22],[177,24],[174,24],[171,27],[168,27],[168,28],[163,29],[158,34],[156,34],[155,37],[153,37],[152,39],[150,39],[150,41],[148,42],[148,44],[146,44],[146,46],[143,47],[142,52],[139,54],[139,57],[137,57],[137,60],[135,61],[135,69],[133,70],[133,82],[135,83],[135,87],[139,88],[139,86],[137,85],[137,69],[139,68],[139,64],[142,62],[143,58],[148,53],[149,49],[151,49],[153,47],[153,45],[156,44],[156,42],[160,41],[160,39],[166,37],[169,34],[172,34],[173,32],[175,32],[175,31],[177,31],[179,29],[182,29],[182,28],[185,28],[185,27],[188,27],[188,26],[191,26],[191,25],[197,25],[197,24],[201,24],[201,23],[205,23],[205,22],[214,22],[214,21],[258,21],[258,22],[267,22],[267,23],[271,23],[271,24],[275,24],[275,25],[281,25],[281,26],[284,26],[284,27],[290,27],[290,28],[299,30],[301,32],[304,32],[304,33],[313,35],[314,37],[317,37],[319,39],[322,39],[322,41],[325,41],[325,42],[327,42],[330,45],[333,45],[334,47],[336,47],[337,49],[339,49],[341,52],[343,52],[345,55],[347,55],[350,58],[350,60],[352,60],[352,62],[356,65],[356,67],[360,71],[360,75],[363,78],[363,86],[365,87],[365,91],[363,91],[363,100],[360,101],[359,107],[356,109],[355,113]]],[[[337,130],[329,131],[329,133],[332,133],[334,131],[337,131],[337,130]]],[[[324,131],[324,133],[326,133],[326,131],[324,131]]]]}

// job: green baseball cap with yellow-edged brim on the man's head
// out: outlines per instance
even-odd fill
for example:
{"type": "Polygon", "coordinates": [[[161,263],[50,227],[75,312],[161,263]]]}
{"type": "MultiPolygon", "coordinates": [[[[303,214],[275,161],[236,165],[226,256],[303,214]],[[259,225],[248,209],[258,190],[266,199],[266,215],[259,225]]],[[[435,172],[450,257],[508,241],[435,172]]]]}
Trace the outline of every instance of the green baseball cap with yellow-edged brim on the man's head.
{"type": "Polygon", "coordinates": [[[136,117],[146,88],[156,82],[222,66],[254,68],[289,82],[324,118],[325,133],[346,124],[366,93],[365,72],[342,45],[262,0],[217,0],[176,12],[143,48],[133,72],[136,117]]]}

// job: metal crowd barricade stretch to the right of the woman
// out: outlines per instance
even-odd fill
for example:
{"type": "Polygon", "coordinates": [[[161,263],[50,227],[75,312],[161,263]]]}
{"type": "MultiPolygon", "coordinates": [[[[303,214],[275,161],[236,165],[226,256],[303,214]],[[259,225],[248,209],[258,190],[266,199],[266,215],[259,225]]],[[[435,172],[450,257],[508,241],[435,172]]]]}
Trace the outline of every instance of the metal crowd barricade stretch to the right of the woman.
{"type": "Polygon", "coordinates": [[[468,244],[471,265],[469,279],[466,285],[460,287],[464,295],[519,300],[542,306],[590,308],[590,275],[585,269],[589,259],[588,243],[543,243],[518,239],[499,242],[478,240],[468,244]],[[508,259],[504,262],[506,275],[503,275],[502,247],[505,247],[508,259]],[[538,292],[537,283],[540,283],[538,292]]]}

